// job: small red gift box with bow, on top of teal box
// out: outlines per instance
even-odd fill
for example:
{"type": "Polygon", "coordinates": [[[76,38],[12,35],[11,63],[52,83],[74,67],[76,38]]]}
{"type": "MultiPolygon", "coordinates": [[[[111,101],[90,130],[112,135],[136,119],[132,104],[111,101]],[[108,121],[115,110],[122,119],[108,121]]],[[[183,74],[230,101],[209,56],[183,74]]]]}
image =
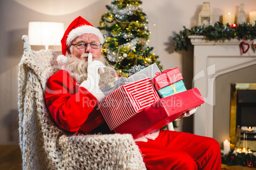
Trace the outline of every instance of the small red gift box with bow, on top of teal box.
{"type": "Polygon", "coordinates": [[[153,77],[152,82],[157,90],[183,79],[178,67],[175,69],[164,70],[162,73],[158,72],[156,75],[157,76],[153,77]]]}

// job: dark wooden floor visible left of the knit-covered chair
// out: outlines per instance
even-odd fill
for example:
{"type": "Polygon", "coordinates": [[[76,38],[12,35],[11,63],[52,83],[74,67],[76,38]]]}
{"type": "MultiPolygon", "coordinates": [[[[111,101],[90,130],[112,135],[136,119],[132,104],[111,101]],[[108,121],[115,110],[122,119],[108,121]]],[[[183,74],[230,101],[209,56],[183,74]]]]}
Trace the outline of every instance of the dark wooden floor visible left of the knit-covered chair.
{"type": "Polygon", "coordinates": [[[22,155],[18,145],[0,145],[0,170],[21,170],[22,155]]]}

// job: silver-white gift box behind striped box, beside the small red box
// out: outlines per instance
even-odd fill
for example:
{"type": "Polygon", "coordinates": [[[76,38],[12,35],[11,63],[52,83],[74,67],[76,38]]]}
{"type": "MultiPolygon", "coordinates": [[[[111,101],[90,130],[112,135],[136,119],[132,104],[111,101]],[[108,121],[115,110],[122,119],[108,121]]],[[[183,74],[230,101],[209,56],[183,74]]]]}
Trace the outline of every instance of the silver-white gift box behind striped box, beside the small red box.
{"type": "Polygon", "coordinates": [[[149,77],[151,80],[153,79],[153,77],[155,77],[155,74],[157,72],[162,72],[162,70],[158,67],[157,63],[153,63],[152,65],[149,65],[148,67],[139,70],[132,75],[130,74],[130,77],[128,77],[128,79],[129,81],[134,82],[149,77]]]}

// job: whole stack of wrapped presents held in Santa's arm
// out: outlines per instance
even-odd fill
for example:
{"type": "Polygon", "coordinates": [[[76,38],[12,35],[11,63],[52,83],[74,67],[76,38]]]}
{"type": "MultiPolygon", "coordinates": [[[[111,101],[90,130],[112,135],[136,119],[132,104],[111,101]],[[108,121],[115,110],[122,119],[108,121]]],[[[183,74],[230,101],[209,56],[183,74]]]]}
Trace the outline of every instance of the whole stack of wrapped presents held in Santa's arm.
{"type": "Polygon", "coordinates": [[[99,103],[99,110],[115,133],[139,138],[204,103],[197,88],[185,88],[178,67],[164,72],[156,63],[139,67],[132,67],[134,74],[129,77],[101,88],[106,97],[99,103]]]}

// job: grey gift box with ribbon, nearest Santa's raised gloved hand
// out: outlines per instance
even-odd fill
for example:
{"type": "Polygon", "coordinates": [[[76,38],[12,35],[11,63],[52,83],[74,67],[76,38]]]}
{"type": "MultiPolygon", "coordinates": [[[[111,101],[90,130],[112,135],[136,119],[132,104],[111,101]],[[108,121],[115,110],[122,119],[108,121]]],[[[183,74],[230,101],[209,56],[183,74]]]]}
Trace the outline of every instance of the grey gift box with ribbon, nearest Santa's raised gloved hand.
{"type": "Polygon", "coordinates": [[[127,77],[120,77],[116,81],[113,81],[110,84],[108,84],[107,86],[104,86],[103,88],[101,88],[101,91],[104,93],[105,96],[108,96],[108,95],[110,95],[110,93],[112,93],[116,89],[120,88],[120,86],[122,86],[124,84],[128,84],[130,82],[132,82],[132,81],[130,79],[128,79],[127,77]]]}

